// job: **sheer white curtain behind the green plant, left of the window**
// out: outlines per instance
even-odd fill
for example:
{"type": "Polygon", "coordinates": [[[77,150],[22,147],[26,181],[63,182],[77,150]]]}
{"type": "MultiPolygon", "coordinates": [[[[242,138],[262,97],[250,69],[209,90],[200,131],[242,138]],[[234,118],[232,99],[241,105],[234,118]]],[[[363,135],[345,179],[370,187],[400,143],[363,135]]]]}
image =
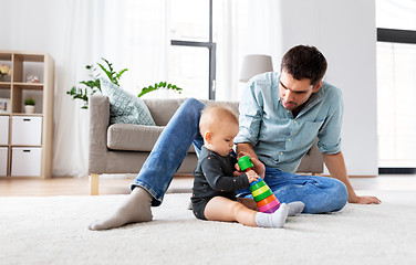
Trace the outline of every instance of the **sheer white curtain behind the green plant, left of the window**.
{"type": "Polygon", "coordinates": [[[89,112],[65,92],[87,80],[86,64],[105,57],[125,89],[137,93],[167,75],[167,0],[67,0],[55,95],[54,176],[87,174],[89,112]]]}

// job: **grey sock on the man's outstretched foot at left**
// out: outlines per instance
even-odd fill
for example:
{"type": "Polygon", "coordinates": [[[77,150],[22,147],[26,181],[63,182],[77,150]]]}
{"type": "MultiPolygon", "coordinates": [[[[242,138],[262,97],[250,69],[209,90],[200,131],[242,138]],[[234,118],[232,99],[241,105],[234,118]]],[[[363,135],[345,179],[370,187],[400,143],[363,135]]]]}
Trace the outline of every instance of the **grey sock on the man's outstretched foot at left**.
{"type": "Polygon", "coordinates": [[[116,211],[101,220],[92,222],[90,230],[116,229],[127,223],[152,221],[153,197],[145,189],[136,187],[116,211]]]}

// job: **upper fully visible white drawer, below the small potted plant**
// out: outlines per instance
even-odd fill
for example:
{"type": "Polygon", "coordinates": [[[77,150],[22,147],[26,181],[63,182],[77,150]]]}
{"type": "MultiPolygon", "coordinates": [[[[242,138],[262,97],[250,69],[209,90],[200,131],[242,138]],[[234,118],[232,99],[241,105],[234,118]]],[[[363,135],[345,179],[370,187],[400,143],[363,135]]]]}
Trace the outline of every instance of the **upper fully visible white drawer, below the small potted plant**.
{"type": "Polygon", "coordinates": [[[11,145],[40,146],[42,145],[42,117],[12,116],[11,145]]]}

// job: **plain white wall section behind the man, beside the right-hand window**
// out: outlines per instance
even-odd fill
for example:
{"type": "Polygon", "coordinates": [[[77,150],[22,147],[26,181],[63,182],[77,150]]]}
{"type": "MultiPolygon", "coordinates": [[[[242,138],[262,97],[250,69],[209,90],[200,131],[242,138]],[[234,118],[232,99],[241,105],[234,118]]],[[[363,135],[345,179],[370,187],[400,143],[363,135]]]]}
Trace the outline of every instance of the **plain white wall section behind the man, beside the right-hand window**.
{"type": "Polygon", "coordinates": [[[374,0],[281,1],[282,51],[315,45],[325,80],[343,91],[342,147],[351,176],[377,174],[376,28],[374,0]]]}

